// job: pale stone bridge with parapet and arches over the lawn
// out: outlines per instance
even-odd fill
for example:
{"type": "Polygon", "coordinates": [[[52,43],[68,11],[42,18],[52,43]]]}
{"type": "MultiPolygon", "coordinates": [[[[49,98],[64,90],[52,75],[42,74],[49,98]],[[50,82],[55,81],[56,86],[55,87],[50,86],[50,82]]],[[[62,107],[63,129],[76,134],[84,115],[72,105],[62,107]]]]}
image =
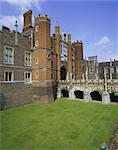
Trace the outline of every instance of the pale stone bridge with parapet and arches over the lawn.
{"type": "Polygon", "coordinates": [[[69,92],[69,98],[75,99],[75,91],[83,92],[85,101],[92,100],[91,93],[98,91],[102,96],[102,102],[110,103],[110,93],[118,92],[118,79],[115,80],[59,80],[57,97],[61,98],[62,90],[69,92]]]}

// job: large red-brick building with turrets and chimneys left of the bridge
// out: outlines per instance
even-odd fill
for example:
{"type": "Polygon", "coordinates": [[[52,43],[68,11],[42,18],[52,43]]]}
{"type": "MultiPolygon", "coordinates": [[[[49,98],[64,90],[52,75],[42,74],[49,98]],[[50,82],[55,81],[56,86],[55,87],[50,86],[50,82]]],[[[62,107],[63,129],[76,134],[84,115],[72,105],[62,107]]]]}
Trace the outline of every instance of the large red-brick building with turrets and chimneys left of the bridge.
{"type": "Polygon", "coordinates": [[[22,33],[18,32],[17,22],[14,31],[4,26],[0,31],[1,109],[52,102],[58,80],[82,79],[82,42],[72,43],[71,34],[62,35],[59,26],[51,36],[47,15],[37,16],[34,25],[31,10],[23,17],[22,33]]]}

